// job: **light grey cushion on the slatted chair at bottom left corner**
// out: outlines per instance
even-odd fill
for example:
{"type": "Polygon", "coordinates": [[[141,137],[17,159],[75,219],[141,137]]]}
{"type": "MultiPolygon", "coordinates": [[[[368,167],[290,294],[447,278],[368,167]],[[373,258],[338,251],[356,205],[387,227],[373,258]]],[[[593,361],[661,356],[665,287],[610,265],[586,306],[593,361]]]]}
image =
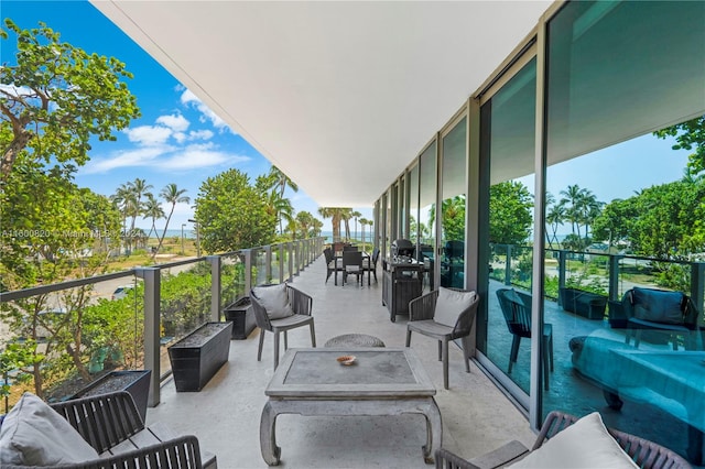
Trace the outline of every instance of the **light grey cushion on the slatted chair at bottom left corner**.
{"type": "Polygon", "coordinates": [[[25,392],[0,427],[0,466],[54,466],[98,459],[64,417],[25,392]]]}

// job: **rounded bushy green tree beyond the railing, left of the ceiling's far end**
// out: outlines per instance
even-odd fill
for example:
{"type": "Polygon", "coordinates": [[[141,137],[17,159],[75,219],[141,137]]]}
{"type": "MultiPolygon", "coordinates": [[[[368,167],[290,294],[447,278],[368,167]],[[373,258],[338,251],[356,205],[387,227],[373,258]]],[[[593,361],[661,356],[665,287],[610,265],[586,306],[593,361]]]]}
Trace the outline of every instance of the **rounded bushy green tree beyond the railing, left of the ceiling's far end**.
{"type": "Polygon", "coordinates": [[[207,178],[195,203],[200,240],[208,252],[270,244],[274,239],[276,217],[265,196],[238,170],[207,178]]]}

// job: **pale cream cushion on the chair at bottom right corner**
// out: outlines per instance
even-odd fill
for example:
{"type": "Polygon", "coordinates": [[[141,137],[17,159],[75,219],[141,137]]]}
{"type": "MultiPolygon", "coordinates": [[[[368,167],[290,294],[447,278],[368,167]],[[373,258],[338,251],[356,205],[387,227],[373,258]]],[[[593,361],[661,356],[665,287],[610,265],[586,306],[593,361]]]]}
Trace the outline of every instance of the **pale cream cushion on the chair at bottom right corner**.
{"type": "Polygon", "coordinates": [[[607,433],[598,412],[593,412],[558,432],[539,449],[508,468],[638,468],[607,433]]]}

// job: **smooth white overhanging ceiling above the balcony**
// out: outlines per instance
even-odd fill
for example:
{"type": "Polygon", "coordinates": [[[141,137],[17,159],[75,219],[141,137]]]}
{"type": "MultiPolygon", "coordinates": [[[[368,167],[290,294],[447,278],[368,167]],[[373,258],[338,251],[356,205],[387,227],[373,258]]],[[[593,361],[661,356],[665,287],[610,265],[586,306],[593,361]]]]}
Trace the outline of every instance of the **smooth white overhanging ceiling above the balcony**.
{"type": "Polygon", "coordinates": [[[91,3],[321,206],[366,207],[551,1],[91,3]]]}

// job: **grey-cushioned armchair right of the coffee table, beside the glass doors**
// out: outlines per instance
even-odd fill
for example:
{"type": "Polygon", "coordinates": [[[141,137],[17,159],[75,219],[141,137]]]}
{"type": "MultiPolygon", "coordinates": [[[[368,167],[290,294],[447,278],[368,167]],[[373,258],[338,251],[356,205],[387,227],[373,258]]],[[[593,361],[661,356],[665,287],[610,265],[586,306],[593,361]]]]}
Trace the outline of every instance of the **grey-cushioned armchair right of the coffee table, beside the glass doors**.
{"type": "Polygon", "coordinates": [[[477,314],[479,296],[475,292],[440,287],[409,303],[406,347],[411,332],[438,341],[438,360],[443,361],[443,386],[448,389],[448,341],[460,339],[465,371],[470,372],[469,336],[477,314]]]}

